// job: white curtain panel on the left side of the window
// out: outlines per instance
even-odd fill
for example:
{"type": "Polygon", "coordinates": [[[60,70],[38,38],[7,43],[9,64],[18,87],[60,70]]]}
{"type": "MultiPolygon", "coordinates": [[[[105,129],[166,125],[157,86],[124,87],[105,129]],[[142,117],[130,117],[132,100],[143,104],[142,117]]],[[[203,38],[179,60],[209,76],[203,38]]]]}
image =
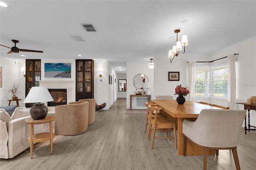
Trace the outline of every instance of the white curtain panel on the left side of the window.
{"type": "Polygon", "coordinates": [[[188,100],[195,101],[195,74],[196,74],[196,61],[188,61],[188,100]]]}

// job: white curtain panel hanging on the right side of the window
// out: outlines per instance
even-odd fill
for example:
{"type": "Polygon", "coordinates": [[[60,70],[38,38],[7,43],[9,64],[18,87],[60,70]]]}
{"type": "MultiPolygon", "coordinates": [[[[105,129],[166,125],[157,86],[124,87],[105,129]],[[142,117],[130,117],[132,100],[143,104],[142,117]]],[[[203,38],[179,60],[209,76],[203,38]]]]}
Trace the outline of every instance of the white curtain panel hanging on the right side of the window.
{"type": "Polygon", "coordinates": [[[236,59],[228,55],[228,107],[236,109],[236,59]]]}

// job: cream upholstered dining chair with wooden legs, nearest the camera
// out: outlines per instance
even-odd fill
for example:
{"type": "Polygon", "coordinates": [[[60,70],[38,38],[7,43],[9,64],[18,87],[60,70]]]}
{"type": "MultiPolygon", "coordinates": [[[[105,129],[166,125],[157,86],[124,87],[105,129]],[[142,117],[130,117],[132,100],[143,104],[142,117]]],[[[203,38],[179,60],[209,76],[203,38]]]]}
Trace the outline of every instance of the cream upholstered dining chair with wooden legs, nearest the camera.
{"type": "Polygon", "coordinates": [[[218,150],[231,149],[236,169],[240,170],[236,147],[245,114],[245,110],[203,109],[196,121],[185,119],[182,123],[183,155],[186,156],[187,139],[202,147],[204,170],[206,170],[208,149],[215,150],[216,156],[218,156],[218,150]]]}

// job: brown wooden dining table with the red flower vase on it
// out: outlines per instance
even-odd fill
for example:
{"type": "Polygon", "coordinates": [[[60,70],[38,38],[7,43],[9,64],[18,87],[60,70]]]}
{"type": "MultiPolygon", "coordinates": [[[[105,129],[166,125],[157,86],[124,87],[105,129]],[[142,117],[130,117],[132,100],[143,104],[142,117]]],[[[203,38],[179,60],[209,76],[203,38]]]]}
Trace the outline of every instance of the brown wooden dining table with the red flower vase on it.
{"type": "MultiPolygon", "coordinates": [[[[151,100],[159,107],[162,107],[162,111],[166,112],[172,119],[178,124],[178,155],[183,155],[183,133],[182,122],[184,119],[196,121],[198,115],[202,109],[220,109],[209,105],[203,105],[196,102],[186,101],[183,105],[179,105],[176,100],[151,100]]],[[[212,127],[214,130],[214,127],[212,127]]],[[[214,155],[215,150],[208,150],[208,155],[214,155]]],[[[203,155],[203,148],[193,144],[189,140],[186,145],[186,155],[203,155]]]]}

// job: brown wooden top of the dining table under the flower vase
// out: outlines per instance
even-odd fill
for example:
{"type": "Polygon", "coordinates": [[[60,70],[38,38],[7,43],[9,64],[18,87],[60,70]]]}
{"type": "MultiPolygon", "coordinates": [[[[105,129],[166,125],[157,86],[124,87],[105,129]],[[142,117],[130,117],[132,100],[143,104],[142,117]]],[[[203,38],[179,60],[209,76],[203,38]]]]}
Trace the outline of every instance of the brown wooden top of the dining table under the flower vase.
{"type": "Polygon", "coordinates": [[[163,111],[175,118],[197,118],[202,109],[220,109],[209,105],[186,101],[183,105],[178,105],[176,100],[151,100],[163,111]]]}

